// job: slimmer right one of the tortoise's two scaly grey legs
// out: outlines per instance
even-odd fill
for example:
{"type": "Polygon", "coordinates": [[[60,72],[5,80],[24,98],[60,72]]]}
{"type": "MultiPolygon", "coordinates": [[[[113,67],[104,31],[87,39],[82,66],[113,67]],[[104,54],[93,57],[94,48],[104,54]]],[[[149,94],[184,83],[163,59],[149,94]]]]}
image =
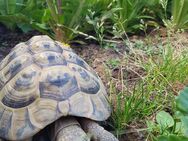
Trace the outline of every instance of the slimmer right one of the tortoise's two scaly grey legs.
{"type": "Polygon", "coordinates": [[[90,119],[82,118],[80,124],[85,132],[92,135],[94,141],[118,141],[112,133],[90,119]]]}

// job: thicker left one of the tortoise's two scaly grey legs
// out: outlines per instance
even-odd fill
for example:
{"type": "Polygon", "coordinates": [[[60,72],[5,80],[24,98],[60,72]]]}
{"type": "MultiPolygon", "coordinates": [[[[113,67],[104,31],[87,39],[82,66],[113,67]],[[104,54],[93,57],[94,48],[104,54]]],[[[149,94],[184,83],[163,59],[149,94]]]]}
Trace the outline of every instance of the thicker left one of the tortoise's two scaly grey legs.
{"type": "Polygon", "coordinates": [[[89,137],[73,117],[57,120],[52,127],[52,141],[90,141],[89,137]]]}

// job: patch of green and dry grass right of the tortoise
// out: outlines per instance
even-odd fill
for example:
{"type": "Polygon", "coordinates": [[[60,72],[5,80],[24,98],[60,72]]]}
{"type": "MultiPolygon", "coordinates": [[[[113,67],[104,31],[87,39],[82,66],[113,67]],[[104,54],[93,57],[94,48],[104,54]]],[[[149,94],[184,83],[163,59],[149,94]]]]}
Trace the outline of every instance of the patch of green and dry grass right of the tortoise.
{"type": "MultiPolygon", "coordinates": [[[[132,53],[125,55],[124,61],[115,62],[115,66],[121,68],[118,77],[121,88],[117,89],[111,77],[110,98],[114,109],[111,126],[118,137],[126,133],[126,127],[131,123],[141,123],[146,128],[141,130],[147,130],[147,119],[160,110],[173,113],[175,95],[180,90],[177,87],[188,80],[188,50],[177,53],[170,38],[167,40],[157,55],[148,54],[144,50],[146,45],[142,48],[142,44],[138,47],[135,43],[132,53]],[[139,68],[137,72],[135,66],[139,68]],[[131,80],[130,72],[137,74],[137,79],[131,80]]],[[[108,61],[108,66],[110,63],[114,66],[114,60],[108,61]]]]}

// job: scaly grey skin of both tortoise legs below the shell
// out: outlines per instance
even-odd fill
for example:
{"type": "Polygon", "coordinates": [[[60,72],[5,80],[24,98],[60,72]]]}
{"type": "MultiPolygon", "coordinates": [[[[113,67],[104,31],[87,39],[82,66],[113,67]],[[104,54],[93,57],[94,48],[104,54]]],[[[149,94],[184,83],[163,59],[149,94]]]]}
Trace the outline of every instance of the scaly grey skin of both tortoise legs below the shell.
{"type": "Polygon", "coordinates": [[[52,141],[118,141],[110,132],[86,118],[66,117],[57,120],[52,129],[52,141]],[[87,134],[86,134],[87,133],[87,134]],[[90,136],[89,136],[90,135],[90,136]],[[90,138],[91,137],[91,138],[90,138]]]}

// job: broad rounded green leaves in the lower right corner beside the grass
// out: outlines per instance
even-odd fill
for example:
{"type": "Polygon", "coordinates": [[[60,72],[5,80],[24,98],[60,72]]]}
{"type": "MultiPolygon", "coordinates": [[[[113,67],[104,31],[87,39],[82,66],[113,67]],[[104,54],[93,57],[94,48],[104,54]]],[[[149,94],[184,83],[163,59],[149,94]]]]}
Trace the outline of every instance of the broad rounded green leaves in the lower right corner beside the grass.
{"type": "Polygon", "coordinates": [[[180,92],[176,98],[176,109],[171,116],[165,111],[160,111],[156,115],[156,123],[147,121],[148,131],[150,134],[157,134],[158,137],[152,136],[158,141],[183,141],[188,140],[188,88],[180,92]]]}

